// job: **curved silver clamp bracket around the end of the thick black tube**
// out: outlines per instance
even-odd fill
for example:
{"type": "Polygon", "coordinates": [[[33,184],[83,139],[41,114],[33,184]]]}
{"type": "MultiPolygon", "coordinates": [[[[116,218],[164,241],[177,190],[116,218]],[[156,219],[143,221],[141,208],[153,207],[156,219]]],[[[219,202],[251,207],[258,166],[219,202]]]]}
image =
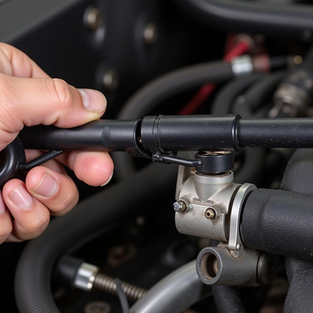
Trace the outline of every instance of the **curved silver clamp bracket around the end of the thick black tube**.
{"type": "Polygon", "coordinates": [[[250,192],[256,190],[257,187],[253,184],[245,183],[238,189],[235,198],[233,200],[233,205],[230,213],[230,223],[229,223],[229,239],[228,239],[228,249],[233,257],[239,257],[244,250],[244,245],[240,238],[240,215],[241,209],[244,204],[245,198],[250,192]]]}

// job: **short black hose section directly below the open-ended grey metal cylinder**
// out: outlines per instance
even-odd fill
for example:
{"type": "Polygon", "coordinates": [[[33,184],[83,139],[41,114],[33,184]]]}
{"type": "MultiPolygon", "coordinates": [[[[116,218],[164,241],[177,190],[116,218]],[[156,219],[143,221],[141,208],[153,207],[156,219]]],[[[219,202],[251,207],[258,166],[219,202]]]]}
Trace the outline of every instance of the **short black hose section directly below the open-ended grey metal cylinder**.
{"type": "Polygon", "coordinates": [[[245,313],[239,291],[234,286],[212,286],[215,304],[219,313],[245,313]]]}

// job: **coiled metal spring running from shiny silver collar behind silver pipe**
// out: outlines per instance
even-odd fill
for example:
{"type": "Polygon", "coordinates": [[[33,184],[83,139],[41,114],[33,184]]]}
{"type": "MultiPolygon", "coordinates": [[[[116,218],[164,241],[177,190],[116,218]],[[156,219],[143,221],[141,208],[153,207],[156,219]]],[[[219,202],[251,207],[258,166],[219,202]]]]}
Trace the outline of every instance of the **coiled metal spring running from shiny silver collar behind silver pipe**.
{"type": "MultiPolygon", "coordinates": [[[[126,283],[125,281],[121,281],[121,284],[125,292],[126,298],[132,302],[136,302],[147,292],[146,289],[126,283]]],[[[101,273],[98,273],[96,275],[95,281],[93,283],[93,288],[102,290],[111,295],[117,295],[114,278],[101,273]]],[[[187,309],[183,313],[197,313],[197,312],[191,309],[187,309]]]]}

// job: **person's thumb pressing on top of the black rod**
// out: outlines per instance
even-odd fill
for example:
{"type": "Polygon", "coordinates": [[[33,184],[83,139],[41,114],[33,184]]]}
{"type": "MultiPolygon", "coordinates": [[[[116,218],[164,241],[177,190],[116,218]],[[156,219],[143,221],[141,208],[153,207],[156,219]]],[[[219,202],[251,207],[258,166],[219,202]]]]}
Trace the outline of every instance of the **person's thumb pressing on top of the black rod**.
{"type": "Polygon", "coordinates": [[[105,97],[97,90],[76,89],[55,78],[0,74],[0,150],[24,125],[79,126],[99,119],[105,107],[105,97]]]}

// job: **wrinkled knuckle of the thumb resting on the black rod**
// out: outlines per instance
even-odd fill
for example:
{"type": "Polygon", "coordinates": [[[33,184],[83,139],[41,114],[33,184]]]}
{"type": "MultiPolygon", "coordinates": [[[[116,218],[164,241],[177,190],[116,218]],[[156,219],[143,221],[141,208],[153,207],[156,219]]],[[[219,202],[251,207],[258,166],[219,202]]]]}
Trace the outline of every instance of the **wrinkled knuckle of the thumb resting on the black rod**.
{"type": "Polygon", "coordinates": [[[68,109],[72,104],[73,95],[69,89],[69,84],[59,78],[53,78],[49,81],[49,90],[54,100],[61,105],[61,109],[68,109]]]}

